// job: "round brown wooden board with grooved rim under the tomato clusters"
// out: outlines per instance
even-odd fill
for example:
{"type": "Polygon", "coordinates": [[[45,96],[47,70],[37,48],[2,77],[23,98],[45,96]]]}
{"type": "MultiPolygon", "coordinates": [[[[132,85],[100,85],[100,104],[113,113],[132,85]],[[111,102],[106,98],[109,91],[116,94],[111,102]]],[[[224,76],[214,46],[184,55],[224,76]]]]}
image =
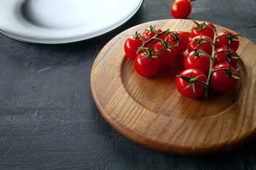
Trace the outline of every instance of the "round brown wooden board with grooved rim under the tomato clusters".
{"type": "MultiPolygon", "coordinates": [[[[138,144],[175,154],[209,154],[239,147],[255,137],[256,45],[245,37],[237,51],[239,85],[233,91],[188,99],[176,89],[187,51],[175,65],[140,77],[124,52],[127,35],[152,26],[184,31],[191,20],[158,20],[123,31],[99,52],[91,72],[93,99],[116,130],[138,144]]],[[[218,31],[223,27],[216,26],[218,31]]],[[[223,28],[227,29],[227,28],[223,28]]],[[[227,29],[229,30],[229,29],[227,29]]],[[[231,31],[231,30],[229,30],[231,31]]]]}

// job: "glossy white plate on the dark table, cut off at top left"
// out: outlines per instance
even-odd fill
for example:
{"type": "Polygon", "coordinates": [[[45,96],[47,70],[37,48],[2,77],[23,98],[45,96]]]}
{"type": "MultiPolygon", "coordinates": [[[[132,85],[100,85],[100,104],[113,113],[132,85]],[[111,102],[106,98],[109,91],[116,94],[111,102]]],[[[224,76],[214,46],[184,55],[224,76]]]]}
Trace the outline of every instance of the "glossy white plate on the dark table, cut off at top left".
{"type": "Polygon", "coordinates": [[[0,0],[0,32],[32,43],[67,43],[125,23],[143,0],[0,0]]]}

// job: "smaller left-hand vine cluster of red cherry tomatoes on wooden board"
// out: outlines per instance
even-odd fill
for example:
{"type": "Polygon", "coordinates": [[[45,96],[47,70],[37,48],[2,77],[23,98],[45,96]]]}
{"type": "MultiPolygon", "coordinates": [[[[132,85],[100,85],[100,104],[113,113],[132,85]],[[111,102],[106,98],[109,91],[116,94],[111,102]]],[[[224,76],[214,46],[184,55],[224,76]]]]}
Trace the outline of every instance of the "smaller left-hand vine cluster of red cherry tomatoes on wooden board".
{"type": "Polygon", "coordinates": [[[166,32],[157,36],[159,33],[163,33],[160,28],[150,26],[143,35],[136,33],[125,41],[125,54],[128,58],[135,60],[135,70],[142,77],[154,76],[161,66],[171,65],[175,62],[177,54],[187,50],[189,37],[184,32],[176,31],[172,34],[166,32]],[[143,47],[143,43],[148,40],[151,42],[143,47]],[[138,49],[142,51],[137,55],[138,49]]]}

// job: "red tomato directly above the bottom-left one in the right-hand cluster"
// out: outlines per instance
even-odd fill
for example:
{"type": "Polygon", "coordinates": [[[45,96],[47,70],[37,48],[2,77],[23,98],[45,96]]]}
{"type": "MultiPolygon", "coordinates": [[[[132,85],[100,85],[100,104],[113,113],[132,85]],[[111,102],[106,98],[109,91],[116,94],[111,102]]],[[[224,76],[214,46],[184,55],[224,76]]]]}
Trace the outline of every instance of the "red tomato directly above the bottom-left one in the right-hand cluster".
{"type": "Polygon", "coordinates": [[[210,59],[206,55],[196,57],[195,59],[194,52],[192,51],[186,55],[184,66],[185,69],[194,68],[202,71],[205,75],[208,75],[210,69],[210,59]]]}

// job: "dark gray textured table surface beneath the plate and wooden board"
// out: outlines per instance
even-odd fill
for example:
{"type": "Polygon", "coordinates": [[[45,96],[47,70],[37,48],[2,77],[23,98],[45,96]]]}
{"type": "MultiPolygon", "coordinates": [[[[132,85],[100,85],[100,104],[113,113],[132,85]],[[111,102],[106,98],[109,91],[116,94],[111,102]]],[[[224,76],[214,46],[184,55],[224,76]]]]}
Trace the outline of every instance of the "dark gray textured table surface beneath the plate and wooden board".
{"type": "MultiPolygon", "coordinates": [[[[144,0],[131,20],[93,40],[34,45],[0,34],[1,170],[256,170],[250,142],[227,153],[175,156],[131,142],[99,113],[90,71],[127,28],[173,18],[173,0],[144,0]]],[[[255,0],[197,0],[188,19],[227,27],[256,43],[255,0]]]]}

